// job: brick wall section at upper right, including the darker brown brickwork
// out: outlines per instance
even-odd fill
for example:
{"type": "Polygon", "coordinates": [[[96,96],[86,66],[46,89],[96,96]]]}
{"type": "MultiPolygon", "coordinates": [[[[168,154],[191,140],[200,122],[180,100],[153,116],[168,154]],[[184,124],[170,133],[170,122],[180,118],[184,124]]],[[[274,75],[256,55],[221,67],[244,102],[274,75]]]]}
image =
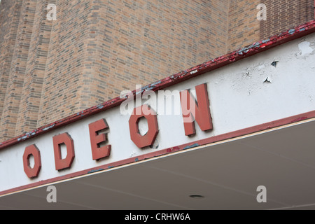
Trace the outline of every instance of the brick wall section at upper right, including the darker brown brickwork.
{"type": "Polygon", "coordinates": [[[314,20],[314,0],[231,0],[227,51],[269,38],[314,20]],[[267,6],[267,20],[257,20],[259,3],[267,6]]]}

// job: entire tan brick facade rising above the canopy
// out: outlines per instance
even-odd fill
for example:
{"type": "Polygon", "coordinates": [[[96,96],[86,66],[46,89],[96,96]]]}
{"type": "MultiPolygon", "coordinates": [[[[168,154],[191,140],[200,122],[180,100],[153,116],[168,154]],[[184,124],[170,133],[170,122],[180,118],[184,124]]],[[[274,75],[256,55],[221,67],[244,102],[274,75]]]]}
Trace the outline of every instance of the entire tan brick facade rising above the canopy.
{"type": "Polygon", "coordinates": [[[0,142],[313,18],[313,0],[1,0],[0,142]]]}

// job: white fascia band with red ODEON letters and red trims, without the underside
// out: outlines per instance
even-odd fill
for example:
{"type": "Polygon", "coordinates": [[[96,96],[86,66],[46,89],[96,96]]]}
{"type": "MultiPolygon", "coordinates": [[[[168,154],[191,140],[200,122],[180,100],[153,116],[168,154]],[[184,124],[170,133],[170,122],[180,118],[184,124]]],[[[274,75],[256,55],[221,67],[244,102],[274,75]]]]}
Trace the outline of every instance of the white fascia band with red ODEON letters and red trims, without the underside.
{"type": "Polygon", "coordinates": [[[1,143],[0,195],[315,119],[314,31],[310,22],[136,88],[130,104],[116,97],[1,143]],[[159,104],[137,103],[147,90],[159,104]]]}

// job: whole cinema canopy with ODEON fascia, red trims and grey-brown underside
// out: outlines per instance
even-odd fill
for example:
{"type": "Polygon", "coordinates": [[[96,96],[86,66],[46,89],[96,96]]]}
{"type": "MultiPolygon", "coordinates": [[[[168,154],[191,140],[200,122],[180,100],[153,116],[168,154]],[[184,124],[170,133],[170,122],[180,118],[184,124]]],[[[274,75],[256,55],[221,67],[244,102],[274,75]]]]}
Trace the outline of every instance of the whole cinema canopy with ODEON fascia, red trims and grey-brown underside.
{"type": "Polygon", "coordinates": [[[3,142],[0,209],[315,209],[314,31],[308,22],[3,142]]]}

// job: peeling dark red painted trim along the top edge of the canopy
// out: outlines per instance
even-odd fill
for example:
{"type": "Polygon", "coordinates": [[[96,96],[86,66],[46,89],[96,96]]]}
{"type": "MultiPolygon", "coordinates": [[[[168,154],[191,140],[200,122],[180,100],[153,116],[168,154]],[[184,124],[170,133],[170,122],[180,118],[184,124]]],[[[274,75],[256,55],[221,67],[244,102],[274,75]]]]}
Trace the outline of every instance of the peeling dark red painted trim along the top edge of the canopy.
{"type": "MultiPolygon", "coordinates": [[[[218,69],[227,64],[231,64],[233,62],[237,62],[240,59],[244,59],[251,55],[258,54],[259,52],[263,52],[270,48],[274,48],[277,45],[281,45],[283,43],[287,43],[288,41],[292,41],[296,38],[300,38],[302,36],[306,36],[307,34],[311,34],[315,31],[315,20],[307,22],[303,25],[295,27],[295,29],[290,29],[288,31],[284,31],[281,34],[274,35],[267,40],[258,41],[249,45],[246,48],[240,48],[239,50],[235,50],[233,52],[228,53],[227,55],[223,55],[221,57],[217,57],[209,62],[204,62],[203,64],[199,64],[194,66],[186,71],[181,71],[172,76],[159,80],[158,82],[151,83],[146,87],[143,87],[141,90],[134,90],[134,95],[136,92],[144,92],[145,90],[162,90],[165,87],[169,87],[171,85],[175,85],[176,83],[181,83],[184,80],[188,80],[189,78],[193,78],[195,76],[199,76],[203,73],[213,71],[214,69],[218,69]]],[[[22,134],[19,137],[15,137],[13,139],[9,139],[8,141],[4,141],[0,144],[0,150],[3,148],[7,148],[8,146],[13,146],[15,144],[20,143],[20,141],[25,141],[27,139],[34,138],[40,134],[45,132],[49,132],[51,130],[55,130],[58,127],[62,127],[64,125],[68,125],[69,123],[76,122],[77,120],[81,120],[86,118],[87,116],[92,116],[95,113],[99,113],[102,111],[106,111],[115,106],[119,106],[125,99],[120,99],[120,97],[116,97],[115,99],[111,99],[103,104],[99,104],[97,106],[93,106],[90,109],[86,109],[84,111],[80,111],[72,116],[63,118],[61,120],[57,120],[54,123],[49,125],[45,125],[43,127],[39,127],[36,130],[28,132],[27,134],[22,134]]]]}

